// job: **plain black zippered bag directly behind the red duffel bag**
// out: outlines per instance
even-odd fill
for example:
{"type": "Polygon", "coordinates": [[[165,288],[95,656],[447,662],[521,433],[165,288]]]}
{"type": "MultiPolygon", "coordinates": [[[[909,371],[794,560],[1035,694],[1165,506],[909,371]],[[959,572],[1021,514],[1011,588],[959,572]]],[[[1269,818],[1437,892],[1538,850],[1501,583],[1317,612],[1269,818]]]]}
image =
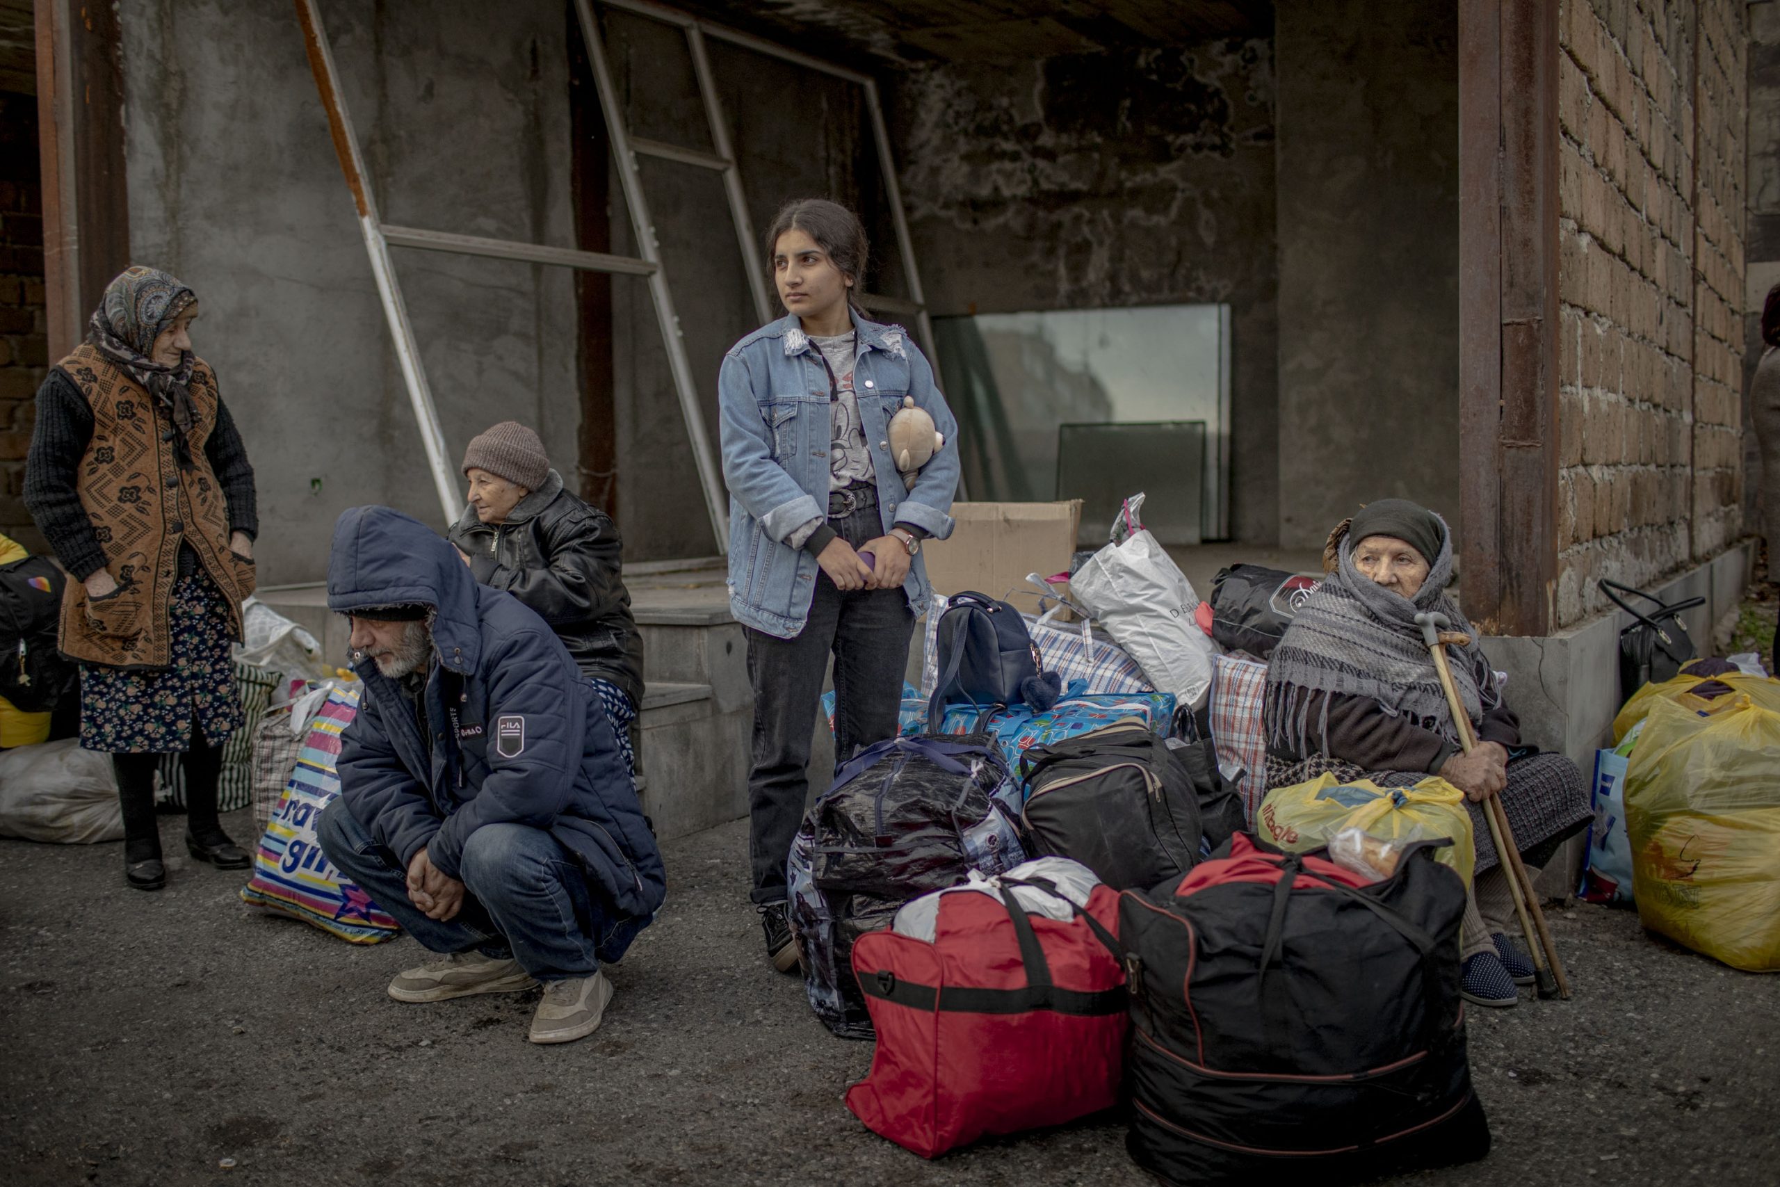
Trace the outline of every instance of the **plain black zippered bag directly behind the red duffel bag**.
{"type": "Polygon", "coordinates": [[[1205,749],[1200,744],[1200,762],[1189,767],[1136,717],[1031,747],[1020,779],[1032,844],[1080,861],[1112,890],[1191,870],[1205,835],[1196,779],[1216,778],[1207,794],[1223,785],[1205,749]]]}

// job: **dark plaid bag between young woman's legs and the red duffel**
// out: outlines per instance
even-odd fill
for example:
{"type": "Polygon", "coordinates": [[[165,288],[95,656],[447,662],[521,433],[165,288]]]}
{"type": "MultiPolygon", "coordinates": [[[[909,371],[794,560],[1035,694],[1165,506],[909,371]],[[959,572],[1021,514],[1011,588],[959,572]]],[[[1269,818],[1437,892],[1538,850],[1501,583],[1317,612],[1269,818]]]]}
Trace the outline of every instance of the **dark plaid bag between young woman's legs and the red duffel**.
{"type": "Polygon", "coordinates": [[[792,840],[790,925],[815,1016],[849,1039],[872,1038],[853,975],[853,941],[897,908],[1025,861],[1020,787],[990,744],[902,737],[862,749],[835,772],[792,840]]]}

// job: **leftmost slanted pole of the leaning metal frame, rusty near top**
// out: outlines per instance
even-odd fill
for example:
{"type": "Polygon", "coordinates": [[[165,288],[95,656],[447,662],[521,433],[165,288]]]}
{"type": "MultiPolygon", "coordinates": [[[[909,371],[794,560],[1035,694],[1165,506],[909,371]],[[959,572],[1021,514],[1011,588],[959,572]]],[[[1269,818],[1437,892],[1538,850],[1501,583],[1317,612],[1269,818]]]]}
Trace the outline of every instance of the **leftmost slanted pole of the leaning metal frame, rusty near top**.
{"type": "Polygon", "coordinates": [[[395,269],[390,265],[390,247],[383,238],[377,206],[372,201],[370,187],[365,183],[365,158],[358,151],[358,137],[352,133],[345,98],[340,94],[340,75],[335,69],[333,50],[328,44],[328,34],[322,30],[320,12],[315,11],[315,0],[295,0],[295,5],[297,20],[303,23],[303,43],[310,55],[310,71],[315,75],[315,89],[320,93],[322,109],[328,112],[335,155],[340,158],[340,173],[345,174],[347,189],[352,190],[352,203],[358,206],[358,226],[365,233],[365,254],[370,256],[370,274],[377,281],[377,299],[383,303],[383,315],[390,322],[390,338],[395,342],[395,359],[402,367],[408,402],[415,409],[420,445],[427,454],[427,468],[433,472],[433,486],[438,491],[440,509],[445,513],[445,521],[450,523],[463,511],[463,495],[452,479],[450,466],[445,463],[445,434],[440,431],[433,390],[427,386],[427,374],[420,365],[420,347],[415,342],[415,329],[408,322],[402,288],[395,279],[395,269]]]}

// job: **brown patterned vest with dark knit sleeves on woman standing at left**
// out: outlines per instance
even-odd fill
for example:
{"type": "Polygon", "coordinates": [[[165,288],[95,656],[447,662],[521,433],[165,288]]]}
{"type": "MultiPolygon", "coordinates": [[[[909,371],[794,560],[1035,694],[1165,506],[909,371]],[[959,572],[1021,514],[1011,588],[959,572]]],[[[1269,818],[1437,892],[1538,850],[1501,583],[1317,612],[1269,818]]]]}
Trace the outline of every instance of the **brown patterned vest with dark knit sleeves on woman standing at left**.
{"type": "MultiPolygon", "coordinates": [[[[258,529],[253,466],[203,361],[190,383],[192,464],[174,456],[173,424],[123,370],[82,343],[37,392],[25,466],[25,504],[62,566],[77,578],[62,600],[61,650],[112,667],[166,667],[173,658],[167,605],[189,552],[233,609],[255,587],[253,562],[230,532],[258,529]],[[100,568],[117,593],[87,598],[100,568]]],[[[189,559],[190,559],[189,557],[189,559]]]]}

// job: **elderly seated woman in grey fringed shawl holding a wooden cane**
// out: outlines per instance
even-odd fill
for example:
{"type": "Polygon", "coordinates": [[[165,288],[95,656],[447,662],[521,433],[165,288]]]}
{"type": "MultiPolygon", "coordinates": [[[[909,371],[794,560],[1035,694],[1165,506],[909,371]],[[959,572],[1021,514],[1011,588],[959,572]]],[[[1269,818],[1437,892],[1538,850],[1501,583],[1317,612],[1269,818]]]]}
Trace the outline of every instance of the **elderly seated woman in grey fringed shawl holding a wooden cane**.
{"type": "Polygon", "coordinates": [[[1481,803],[1499,795],[1529,874],[1590,819],[1582,772],[1520,739],[1476,632],[1445,594],[1452,534],[1404,498],[1367,504],[1330,534],[1324,582],[1267,666],[1267,788],[1335,774],[1380,787],[1440,776],[1465,792],[1477,851],[1461,940],[1463,993],[1513,1005],[1533,965],[1508,938],[1513,900],[1481,803]],[[1465,755],[1415,616],[1436,610],[1470,635],[1447,658],[1477,747],[1465,755]]]}

